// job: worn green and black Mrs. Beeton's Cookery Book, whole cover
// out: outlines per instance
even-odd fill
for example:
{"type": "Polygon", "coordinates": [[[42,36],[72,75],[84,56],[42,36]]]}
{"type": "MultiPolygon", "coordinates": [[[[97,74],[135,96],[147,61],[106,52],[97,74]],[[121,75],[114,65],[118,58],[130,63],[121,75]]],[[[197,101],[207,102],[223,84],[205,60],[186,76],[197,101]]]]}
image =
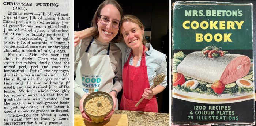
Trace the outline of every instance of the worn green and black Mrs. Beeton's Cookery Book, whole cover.
{"type": "Polygon", "coordinates": [[[172,123],[254,125],[252,4],[172,9],[172,123]]]}

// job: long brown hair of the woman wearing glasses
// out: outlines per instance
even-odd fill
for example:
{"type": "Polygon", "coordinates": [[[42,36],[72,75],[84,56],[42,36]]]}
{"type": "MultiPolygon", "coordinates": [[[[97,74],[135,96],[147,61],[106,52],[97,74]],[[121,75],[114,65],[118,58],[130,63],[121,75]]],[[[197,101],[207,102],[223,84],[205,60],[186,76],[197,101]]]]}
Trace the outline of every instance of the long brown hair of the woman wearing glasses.
{"type": "MultiPolygon", "coordinates": [[[[123,9],[120,6],[120,4],[117,3],[116,0],[105,0],[104,2],[102,2],[99,5],[99,7],[97,8],[96,12],[94,13],[93,19],[91,20],[91,27],[93,27],[93,30],[91,32],[93,33],[94,38],[97,38],[99,36],[99,30],[98,30],[98,25],[97,25],[98,16],[101,14],[102,8],[109,4],[115,6],[118,9],[118,11],[120,12],[121,19],[123,18],[123,9]]],[[[121,40],[121,38],[120,38],[120,35],[118,32],[117,35],[111,41],[120,42],[120,40],[121,40]]]]}

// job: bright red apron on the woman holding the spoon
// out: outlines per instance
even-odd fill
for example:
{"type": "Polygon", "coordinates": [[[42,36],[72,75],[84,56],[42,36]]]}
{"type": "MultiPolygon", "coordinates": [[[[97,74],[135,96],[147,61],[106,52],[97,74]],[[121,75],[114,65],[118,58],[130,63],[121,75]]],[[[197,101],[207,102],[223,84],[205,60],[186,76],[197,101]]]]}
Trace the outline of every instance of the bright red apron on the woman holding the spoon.
{"type": "Polygon", "coordinates": [[[135,107],[135,104],[140,100],[140,98],[142,98],[144,89],[150,88],[144,50],[145,46],[143,45],[140,66],[134,67],[129,65],[132,51],[126,63],[124,64],[122,75],[123,95],[120,103],[120,110],[158,112],[157,99],[155,96],[153,96],[153,98],[150,100],[143,99],[139,106],[135,107]]]}

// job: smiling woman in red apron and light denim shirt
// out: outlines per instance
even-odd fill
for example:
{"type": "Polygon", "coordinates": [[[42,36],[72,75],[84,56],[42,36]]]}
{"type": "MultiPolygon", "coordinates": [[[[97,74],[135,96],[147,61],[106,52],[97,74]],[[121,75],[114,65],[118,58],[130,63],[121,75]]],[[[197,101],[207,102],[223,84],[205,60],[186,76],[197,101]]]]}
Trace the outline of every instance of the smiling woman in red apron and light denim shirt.
{"type": "MultiPolygon", "coordinates": [[[[90,35],[90,28],[76,32],[75,43],[90,35]]],[[[155,95],[167,86],[167,76],[162,83],[150,90],[155,76],[167,75],[166,55],[146,43],[144,26],[133,15],[125,15],[120,27],[120,35],[125,42],[116,43],[122,52],[123,95],[121,110],[158,112],[155,95]],[[144,98],[138,107],[135,104],[144,98]]]]}

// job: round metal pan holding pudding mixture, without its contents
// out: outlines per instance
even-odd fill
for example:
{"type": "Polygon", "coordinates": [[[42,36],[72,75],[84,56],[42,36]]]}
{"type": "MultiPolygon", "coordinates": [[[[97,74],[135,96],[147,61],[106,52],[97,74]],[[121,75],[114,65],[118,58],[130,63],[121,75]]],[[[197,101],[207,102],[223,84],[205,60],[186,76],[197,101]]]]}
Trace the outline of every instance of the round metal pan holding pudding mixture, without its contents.
{"type": "Polygon", "coordinates": [[[94,123],[100,123],[100,122],[103,122],[104,121],[104,118],[112,111],[112,108],[113,108],[113,99],[112,97],[106,93],[106,92],[102,92],[102,91],[97,91],[97,92],[93,92],[93,93],[90,93],[85,99],[84,99],[84,102],[83,102],[83,108],[84,108],[84,112],[86,113],[86,115],[88,115],[92,122],[94,123]],[[95,97],[100,97],[100,96],[104,96],[106,98],[109,99],[112,107],[111,109],[109,110],[108,113],[104,114],[104,115],[101,115],[101,116],[95,116],[95,115],[91,115],[91,114],[88,114],[87,111],[86,111],[86,108],[85,108],[85,105],[86,103],[92,99],[92,98],[95,98],[95,97]]]}

